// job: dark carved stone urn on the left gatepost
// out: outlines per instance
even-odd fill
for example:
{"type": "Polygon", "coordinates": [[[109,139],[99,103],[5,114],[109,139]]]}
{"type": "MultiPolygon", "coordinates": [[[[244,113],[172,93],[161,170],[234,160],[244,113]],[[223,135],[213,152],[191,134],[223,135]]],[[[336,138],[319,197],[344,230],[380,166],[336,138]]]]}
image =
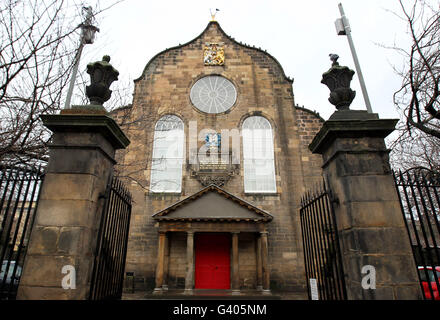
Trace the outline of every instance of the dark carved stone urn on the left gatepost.
{"type": "Polygon", "coordinates": [[[86,87],[86,95],[92,105],[102,105],[112,94],[110,85],[118,80],[119,72],[109,63],[110,57],[102,57],[102,61],[96,61],[87,65],[87,73],[90,74],[90,85],[86,87]]]}

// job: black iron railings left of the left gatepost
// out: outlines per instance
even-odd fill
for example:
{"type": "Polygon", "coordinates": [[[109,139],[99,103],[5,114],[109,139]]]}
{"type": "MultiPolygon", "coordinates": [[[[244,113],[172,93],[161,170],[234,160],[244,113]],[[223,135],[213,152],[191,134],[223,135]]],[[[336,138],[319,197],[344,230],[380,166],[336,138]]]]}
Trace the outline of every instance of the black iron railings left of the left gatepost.
{"type": "Polygon", "coordinates": [[[0,299],[15,299],[43,172],[0,167],[0,299]]]}

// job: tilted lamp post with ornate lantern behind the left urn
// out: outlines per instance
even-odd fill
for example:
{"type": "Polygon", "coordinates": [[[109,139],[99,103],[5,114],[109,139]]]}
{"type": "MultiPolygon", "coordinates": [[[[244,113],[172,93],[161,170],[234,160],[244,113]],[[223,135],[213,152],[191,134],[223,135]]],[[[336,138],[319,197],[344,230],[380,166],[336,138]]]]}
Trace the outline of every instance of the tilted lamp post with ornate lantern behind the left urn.
{"type": "Polygon", "coordinates": [[[73,65],[72,78],[70,79],[69,90],[67,91],[66,102],[64,104],[64,109],[70,109],[70,101],[72,100],[73,86],[75,85],[76,74],[78,73],[79,60],[81,58],[81,53],[86,44],[92,44],[95,39],[96,31],[99,29],[92,25],[92,7],[84,7],[87,11],[86,19],[84,23],[81,23],[78,27],[81,28],[81,42],[78,51],[75,55],[75,64],[73,65]]]}

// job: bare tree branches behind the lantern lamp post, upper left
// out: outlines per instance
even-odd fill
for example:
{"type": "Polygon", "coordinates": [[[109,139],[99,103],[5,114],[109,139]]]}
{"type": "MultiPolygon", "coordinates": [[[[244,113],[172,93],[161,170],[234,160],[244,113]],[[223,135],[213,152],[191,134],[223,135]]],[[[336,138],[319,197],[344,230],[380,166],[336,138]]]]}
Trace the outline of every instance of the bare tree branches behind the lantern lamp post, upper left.
{"type": "Polygon", "coordinates": [[[0,163],[47,160],[39,116],[64,105],[82,9],[76,0],[0,2],[0,163]]]}

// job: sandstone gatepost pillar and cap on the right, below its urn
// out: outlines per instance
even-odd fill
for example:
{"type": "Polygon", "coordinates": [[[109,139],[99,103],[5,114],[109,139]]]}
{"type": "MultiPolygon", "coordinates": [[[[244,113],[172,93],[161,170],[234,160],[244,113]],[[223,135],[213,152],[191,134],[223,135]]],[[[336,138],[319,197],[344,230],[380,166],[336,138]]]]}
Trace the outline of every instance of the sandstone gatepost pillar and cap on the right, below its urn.
{"type": "Polygon", "coordinates": [[[322,154],[336,198],[348,299],[421,298],[384,143],[396,122],[366,111],[337,111],[309,146],[322,154]]]}

